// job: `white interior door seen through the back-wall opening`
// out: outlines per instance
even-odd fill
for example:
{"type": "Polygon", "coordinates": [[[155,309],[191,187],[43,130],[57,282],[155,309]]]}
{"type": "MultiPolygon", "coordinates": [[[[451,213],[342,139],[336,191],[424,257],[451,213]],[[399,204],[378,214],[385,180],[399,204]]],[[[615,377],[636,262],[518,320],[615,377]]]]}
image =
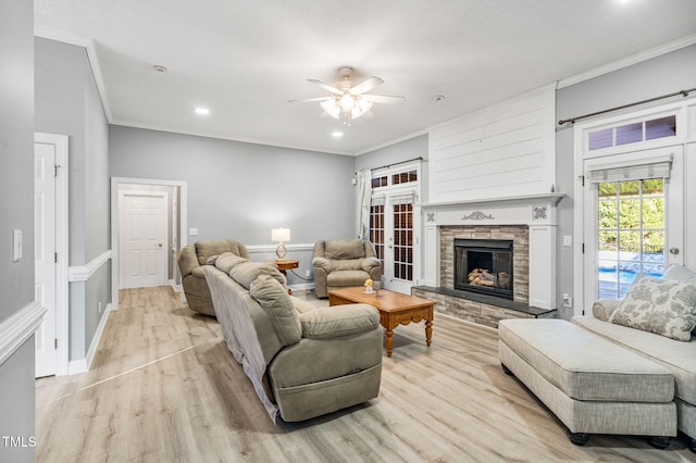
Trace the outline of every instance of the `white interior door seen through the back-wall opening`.
{"type": "Polygon", "coordinates": [[[166,191],[119,191],[119,276],[121,288],[167,281],[166,191]]]}

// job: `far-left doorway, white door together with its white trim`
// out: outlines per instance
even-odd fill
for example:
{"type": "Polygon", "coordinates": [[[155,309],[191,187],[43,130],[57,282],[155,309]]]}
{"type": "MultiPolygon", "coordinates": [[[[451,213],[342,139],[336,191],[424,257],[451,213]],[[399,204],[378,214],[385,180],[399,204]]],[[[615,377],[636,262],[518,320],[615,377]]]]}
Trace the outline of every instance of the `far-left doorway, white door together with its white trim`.
{"type": "Polygon", "coordinates": [[[35,300],[46,316],[35,336],[36,377],[69,365],[67,136],[34,136],[35,300]]]}

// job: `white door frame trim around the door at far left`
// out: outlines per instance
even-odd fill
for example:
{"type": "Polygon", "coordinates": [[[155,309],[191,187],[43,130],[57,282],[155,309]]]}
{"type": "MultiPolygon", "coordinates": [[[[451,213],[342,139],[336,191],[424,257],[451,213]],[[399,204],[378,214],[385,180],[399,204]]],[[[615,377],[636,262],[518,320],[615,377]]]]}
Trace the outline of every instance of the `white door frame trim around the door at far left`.
{"type": "MultiPolygon", "coordinates": [[[[55,147],[55,375],[69,373],[70,363],[70,220],[69,220],[69,137],[67,135],[34,134],[34,143],[55,147]]],[[[33,238],[34,239],[34,238],[33,238]]]]}

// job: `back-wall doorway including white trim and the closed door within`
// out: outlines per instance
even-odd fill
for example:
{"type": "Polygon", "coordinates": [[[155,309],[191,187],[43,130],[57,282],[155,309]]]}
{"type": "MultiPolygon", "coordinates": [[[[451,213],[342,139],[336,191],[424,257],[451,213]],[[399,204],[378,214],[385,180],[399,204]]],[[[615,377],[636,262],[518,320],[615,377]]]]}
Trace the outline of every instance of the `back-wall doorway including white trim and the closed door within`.
{"type": "Polygon", "coordinates": [[[111,179],[112,302],[119,289],[172,285],[181,290],[176,258],[186,245],[185,182],[111,179]]]}

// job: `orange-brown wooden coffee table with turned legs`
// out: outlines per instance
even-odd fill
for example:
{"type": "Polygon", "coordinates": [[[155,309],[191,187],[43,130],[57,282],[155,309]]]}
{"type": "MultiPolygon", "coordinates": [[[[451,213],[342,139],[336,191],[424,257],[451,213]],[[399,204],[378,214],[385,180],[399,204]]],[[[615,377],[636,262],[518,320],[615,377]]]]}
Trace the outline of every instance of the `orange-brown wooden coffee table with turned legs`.
{"type": "Polygon", "coordinates": [[[371,295],[365,293],[365,287],[333,289],[328,291],[328,305],[351,303],[370,304],[380,311],[380,323],[384,327],[384,345],[387,356],[391,356],[394,347],[394,328],[409,323],[425,321],[425,343],[431,345],[433,338],[433,306],[435,302],[414,296],[380,289],[371,295]]]}

